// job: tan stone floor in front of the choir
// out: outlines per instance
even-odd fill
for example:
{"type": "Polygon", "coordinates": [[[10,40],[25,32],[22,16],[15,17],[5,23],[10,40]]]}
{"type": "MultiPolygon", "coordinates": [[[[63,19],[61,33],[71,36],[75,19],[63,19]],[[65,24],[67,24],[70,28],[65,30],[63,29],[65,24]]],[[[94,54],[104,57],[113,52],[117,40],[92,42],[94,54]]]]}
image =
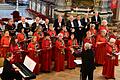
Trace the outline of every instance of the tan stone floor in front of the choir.
{"type": "MultiPolygon", "coordinates": [[[[102,67],[97,67],[94,72],[94,80],[106,80],[101,73],[102,67]]],[[[115,68],[115,77],[116,80],[120,80],[120,66],[115,68]]],[[[37,75],[35,80],[80,80],[80,68],[76,67],[73,70],[66,69],[61,72],[52,71],[51,73],[41,73],[37,75]]]]}

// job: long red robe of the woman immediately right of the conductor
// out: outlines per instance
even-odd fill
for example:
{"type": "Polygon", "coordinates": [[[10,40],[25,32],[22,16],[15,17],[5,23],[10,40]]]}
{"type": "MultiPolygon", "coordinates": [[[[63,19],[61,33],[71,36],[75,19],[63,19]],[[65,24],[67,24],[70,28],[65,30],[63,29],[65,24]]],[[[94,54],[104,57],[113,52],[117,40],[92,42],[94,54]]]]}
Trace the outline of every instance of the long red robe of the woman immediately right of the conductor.
{"type": "Polygon", "coordinates": [[[97,64],[104,64],[104,56],[105,56],[105,46],[106,46],[107,40],[105,37],[102,37],[100,34],[97,35],[96,38],[96,50],[95,50],[95,61],[97,64]],[[97,42],[103,42],[101,44],[97,44],[97,42]]]}

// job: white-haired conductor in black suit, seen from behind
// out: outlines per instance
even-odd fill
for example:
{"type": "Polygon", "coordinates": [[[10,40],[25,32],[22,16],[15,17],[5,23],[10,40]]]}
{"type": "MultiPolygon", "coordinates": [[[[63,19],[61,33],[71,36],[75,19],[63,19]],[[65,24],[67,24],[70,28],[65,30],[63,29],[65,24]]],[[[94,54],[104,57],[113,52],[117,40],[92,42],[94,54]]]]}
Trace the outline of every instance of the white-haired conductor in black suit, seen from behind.
{"type": "Polygon", "coordinates": [[[84,44],[84,51],[82,52],[81,58],[82,58],[82,66],[81,66],[81,72],[82,72],[82,80],[93,80],[93,72],[95,69],[95,63],[94,63],[94,53],[91,49],[92,44],[85,43],[84,44]]]}

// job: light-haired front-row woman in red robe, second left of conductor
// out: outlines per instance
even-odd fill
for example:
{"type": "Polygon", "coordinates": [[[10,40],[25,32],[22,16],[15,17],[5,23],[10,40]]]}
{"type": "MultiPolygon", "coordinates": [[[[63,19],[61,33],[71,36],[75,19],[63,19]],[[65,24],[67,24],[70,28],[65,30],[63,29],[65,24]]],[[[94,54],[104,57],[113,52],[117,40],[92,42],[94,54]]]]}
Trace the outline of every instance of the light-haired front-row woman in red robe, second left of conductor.
{"type": "Polygon", "coordinates": [[[55,71],[64,71],[64,56],[65,56],[65,43],[63,40],[63,34],[58,34],[58,39],[56,40],[55,49],[55,71]]]}

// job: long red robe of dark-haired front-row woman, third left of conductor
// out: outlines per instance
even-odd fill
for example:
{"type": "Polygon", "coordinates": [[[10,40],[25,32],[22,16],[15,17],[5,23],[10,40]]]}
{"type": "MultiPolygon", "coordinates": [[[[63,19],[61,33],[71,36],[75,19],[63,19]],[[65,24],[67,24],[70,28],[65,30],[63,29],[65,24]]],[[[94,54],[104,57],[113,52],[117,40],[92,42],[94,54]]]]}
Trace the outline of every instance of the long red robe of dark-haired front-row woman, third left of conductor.
{"type": "Polygon", "coordinates": [[[51,71],[52,65],[52,49],[51,49],[51,40],[43,39],[42,40],[42,59],[41,59],[41,70],[43,72],[51,71]]]}

